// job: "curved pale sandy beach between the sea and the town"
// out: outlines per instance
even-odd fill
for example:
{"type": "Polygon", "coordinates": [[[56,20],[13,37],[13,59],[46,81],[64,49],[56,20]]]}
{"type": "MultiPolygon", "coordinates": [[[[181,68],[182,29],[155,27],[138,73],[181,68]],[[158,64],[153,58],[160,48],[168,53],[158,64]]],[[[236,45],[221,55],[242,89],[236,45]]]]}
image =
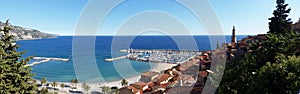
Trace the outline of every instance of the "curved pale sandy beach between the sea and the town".
{"type": "MultiPolygon", "coordinates": [[[[200,52],[201,53],[201,52],[200,52]]],[[[168,70],[174,66],[177,66],[178,64],[184,63],[184,62],[188,62],[191,58],[195,58],[198,55],[198,53],[194,53],[194,55],[190,56],[189,58],[185,58],[186,60],[183,60],[181,62],[177,62],[177,63],[168,63],[168,62],[151,62],[152,64],[150,65],[151,68],[148,71],[145,72],[149,72],[149,71],[154,71],[154,72],[158,72],[158,73],[163,73],[163,71],[168,70]]],[[[71,82],[56,82],[57,86],[55,87],[58,90],[53,90],[53,87],[51,86],[51,81],[48,81],[47,83],[50,83],[50,85],[47,88],[50,88],[51,91],[54,92],[60,92],[60,93],[68,93],[70,90],[72,91],[81,91],[84,92],[84,89],[82,88],[82,84],[86,83],[88,86],[90,86],[89,89],[89,93],[92,92],[102,92],[102,88],[101,87],[117,87],[117,88],[122,88],[124,86],[121,85],[121,82],[123,79],[125,79],[128,84],[132,84],[135,82],[140,82],[141,79],[141,74],[135,75],[135,76],[131,76],[131,77],[121,77],[118,80],[112,80],[112,81],[108,81],[108,82],[78,82],[78,83],[71,83],[71,82]],[[64,84],[64,85],[68,85],[70,87],[64,87],[61,88],[60,85],[64,84]],[[72,87],[76,87],[76,89],[72,89],[72,87]],[[52,88],[52,89],[51,89],[52,88]]],[[[40,83],[40,80],[37,80],[38,83],[40,83]]],[[[42,86],[45,87],[45,86],[42,86]]],[[[41,89],[42,87],[39,87],[39,89],[41,89]]]]}

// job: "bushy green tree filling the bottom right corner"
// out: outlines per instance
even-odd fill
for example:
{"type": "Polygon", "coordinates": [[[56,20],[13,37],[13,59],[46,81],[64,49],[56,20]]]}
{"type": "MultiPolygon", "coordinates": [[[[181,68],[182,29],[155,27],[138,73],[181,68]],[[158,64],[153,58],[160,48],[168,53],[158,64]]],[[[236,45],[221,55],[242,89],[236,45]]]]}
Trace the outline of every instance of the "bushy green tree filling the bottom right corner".
{"type": "Polygon", "coordinates": [[[260,68],[250,91],[263,94],[296,94],[300,89],[300,57],[280,54],[276,63],[260,68]],[[270,84],[272,83],[272,84],[270,84]]]}

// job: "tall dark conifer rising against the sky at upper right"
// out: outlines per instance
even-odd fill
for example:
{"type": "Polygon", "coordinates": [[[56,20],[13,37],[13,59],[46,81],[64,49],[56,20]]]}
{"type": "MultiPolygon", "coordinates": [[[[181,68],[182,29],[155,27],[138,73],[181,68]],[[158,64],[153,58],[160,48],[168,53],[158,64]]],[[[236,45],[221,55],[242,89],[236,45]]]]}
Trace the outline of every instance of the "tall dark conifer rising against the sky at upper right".
{"type": "Polygon", "coordinates": [[[290,13],[291,9],[287,9],[288,4],[285,4],[285,0],[277,0],[276,10],[274,10],[274,17],[269,18],[271,22],[269,22],[268,33],[273,34],[285,34],[286,32],[291,30],[291,19],[288,19],[288,13],[290,13]]]}

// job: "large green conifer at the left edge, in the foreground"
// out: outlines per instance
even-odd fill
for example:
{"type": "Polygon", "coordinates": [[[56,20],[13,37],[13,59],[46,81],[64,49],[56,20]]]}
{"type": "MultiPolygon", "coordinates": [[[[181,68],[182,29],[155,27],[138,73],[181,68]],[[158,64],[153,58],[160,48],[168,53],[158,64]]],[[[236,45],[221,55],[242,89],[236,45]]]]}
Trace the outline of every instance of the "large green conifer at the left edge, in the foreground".
{"type": "Polygon", "coordinates": [[[8,20],[0,29],[0,93],[34,93],[36,85],[33,83],[31,68],[26,66],[31,57],[22,59],[17,52],[19,45],[10,31],[8,20]]]}

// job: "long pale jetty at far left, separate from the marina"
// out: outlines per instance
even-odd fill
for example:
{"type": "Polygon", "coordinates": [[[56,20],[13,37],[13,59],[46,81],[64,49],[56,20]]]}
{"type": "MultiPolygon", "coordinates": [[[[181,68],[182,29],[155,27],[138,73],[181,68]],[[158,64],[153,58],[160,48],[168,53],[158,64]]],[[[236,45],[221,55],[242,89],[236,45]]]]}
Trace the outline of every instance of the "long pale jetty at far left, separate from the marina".
{"type": "Polygon", "coordinates": [[[34,66],[34,65],[37,65],[37,64],[49,62],[50,60],[63,61],[63,62],[70,61],[69,59],[65,59],[65,58],[49,58],[49,57],[33,57],[33,59],[34,60],[40,60],[40,61],[27,64],[27,65],[25,65],[25,67],[27,67],[27,66],[34,66]]]}

